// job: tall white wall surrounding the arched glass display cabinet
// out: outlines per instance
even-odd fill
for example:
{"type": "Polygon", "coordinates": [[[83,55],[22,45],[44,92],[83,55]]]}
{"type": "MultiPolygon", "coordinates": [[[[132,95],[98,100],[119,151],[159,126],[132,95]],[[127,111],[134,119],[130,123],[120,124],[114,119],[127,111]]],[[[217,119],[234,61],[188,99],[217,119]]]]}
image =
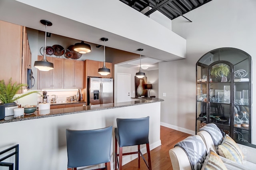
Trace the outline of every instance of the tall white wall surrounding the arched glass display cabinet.
{"type": "MultiPolygon", "coordinates": [[[[255,7],[255,0],[213,0],[185,14],[193,22],[182,17],[172,20],[172,30],[186,39],[187,54],[185,60],[159,64],[159,97],[165,100],[161,105],[161,122],[187,132],[195,130],[196,62],[205,53],[233,47],[244,50],[255,60],[255,7]],[[162,92],[167,96],[160,96],[162,92]]],[[[255,67],[253,62],[252,68],[255,67]]],[[[255,69],[252,76],[256,80],[255,69]]],[[[252,90],[255,100],[256,88],[252,90]]],[[[252,107],[254,122],[255,112],[256,107],[252,107]]],[[[252,136],[256,144],[254,129],[252,136]]]]}

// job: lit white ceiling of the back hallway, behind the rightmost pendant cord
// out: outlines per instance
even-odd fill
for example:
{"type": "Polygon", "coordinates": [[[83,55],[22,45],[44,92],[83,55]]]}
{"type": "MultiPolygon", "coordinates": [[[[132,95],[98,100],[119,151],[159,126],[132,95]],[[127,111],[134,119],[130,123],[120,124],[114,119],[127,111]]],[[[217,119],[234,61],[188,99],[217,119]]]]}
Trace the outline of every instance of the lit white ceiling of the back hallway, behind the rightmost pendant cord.
{"type": "MultiPolygon", "coordinates": [[[[158,62],[162,62],[162,60],[158,60],[150,57],[142,57],[141,58],[142,70],[158,70],[158,62]]],[[[139,68],[140,59],[130,60],[128,62],[122,62],[117,65],[120,67],[126,67],[126,68],[139,68]]]]}

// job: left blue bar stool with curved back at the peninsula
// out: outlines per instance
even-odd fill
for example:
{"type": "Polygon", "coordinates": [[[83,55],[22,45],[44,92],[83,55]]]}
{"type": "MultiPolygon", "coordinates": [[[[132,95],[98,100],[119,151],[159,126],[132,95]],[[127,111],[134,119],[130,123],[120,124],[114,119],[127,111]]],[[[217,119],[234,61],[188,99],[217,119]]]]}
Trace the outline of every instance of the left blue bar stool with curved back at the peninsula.
{"type": "MultiPolygon", "coordinates": [[[[68,170],[105,163],[110,170],[112,126],[94,130],[66,129],[68,170]]],[[[99,170],[97,169],[97,170],[99,170]]]]}

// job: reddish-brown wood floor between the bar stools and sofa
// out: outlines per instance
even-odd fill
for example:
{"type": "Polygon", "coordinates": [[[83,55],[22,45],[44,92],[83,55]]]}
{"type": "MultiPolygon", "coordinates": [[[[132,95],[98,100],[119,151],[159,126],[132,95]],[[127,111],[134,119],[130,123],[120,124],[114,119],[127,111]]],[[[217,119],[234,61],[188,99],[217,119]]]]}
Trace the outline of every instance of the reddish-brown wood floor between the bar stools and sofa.
{"type": "MultiPolygon", "coordinates": [[[[162,145],[150,151],[152,170],[173,170],[169,156],[169,150],[173,148],[176,143],[180,142],[188,136],[190,136],[190,134],[161,126],[160,139],[162,145]]],[[[144,156],[147,159],[147,154],[144,154],[144,156]]],[[[147,170],[147,167],[141,158],[140,168],[138,168],[137,158],[128,164],[125,164],[122,167],[122,170],[147,170]]]]}

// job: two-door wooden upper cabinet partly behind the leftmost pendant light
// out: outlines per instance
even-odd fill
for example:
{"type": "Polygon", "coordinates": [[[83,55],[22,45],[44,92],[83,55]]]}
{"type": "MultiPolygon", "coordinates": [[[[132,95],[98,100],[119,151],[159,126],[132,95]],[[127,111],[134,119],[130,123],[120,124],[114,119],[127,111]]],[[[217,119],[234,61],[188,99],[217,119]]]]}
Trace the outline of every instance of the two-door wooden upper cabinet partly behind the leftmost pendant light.
{"type": "MultiPolygon", "coordinates": [[[[43,56],[38,56],[42,60],[43,56]]],[[[46,57],[52,62],[54,69],[48,72],[38,70],[38,89],[63,89],[64,88],[64,60],[62,58],[46,57]]]]}

